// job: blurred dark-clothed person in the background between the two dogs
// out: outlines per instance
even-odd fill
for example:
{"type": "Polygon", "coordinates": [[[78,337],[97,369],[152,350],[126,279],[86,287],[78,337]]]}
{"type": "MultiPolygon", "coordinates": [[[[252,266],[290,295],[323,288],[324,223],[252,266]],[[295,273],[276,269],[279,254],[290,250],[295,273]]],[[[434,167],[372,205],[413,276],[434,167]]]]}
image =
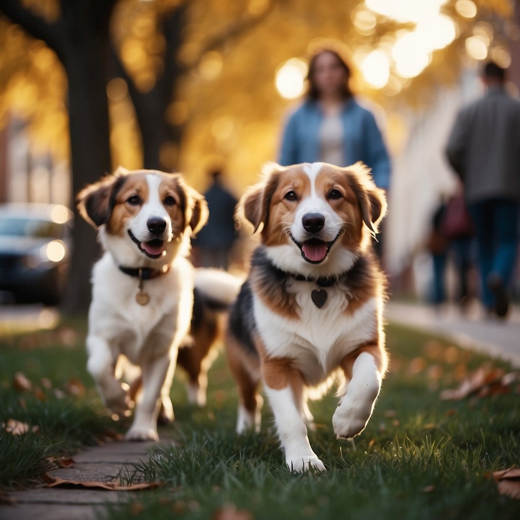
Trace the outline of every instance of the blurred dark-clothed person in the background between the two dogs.
{"type": "Polygon", "coordinates": [[[230,252],[235,240],[235,206],[237,199],[224,186],[222,170],[210,173],[212,184],[204,193],[210,210],[207,224],[192,241],[194,261],[197,266],[229,268],[230,252]]]}

